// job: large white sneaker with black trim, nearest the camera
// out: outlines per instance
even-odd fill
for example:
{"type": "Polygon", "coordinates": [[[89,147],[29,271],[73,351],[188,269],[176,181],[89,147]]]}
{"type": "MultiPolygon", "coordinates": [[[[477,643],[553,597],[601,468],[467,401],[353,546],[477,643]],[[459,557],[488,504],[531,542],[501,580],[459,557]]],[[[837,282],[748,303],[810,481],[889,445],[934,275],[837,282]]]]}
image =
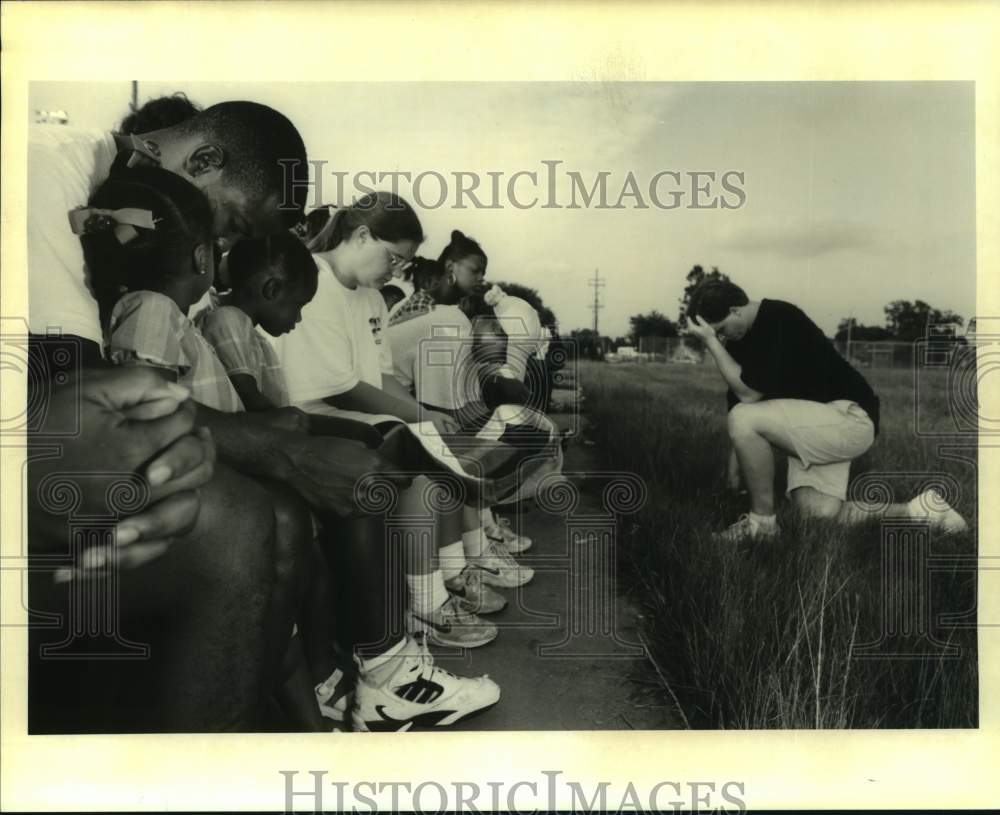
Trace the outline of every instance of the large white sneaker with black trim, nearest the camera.
{"type": "Polygon", "coordinates": [[[455,676],[412,638],[403,650],[358,677],[351,721],[355,730],[399,732],[411,727],[445,727],[500,701],[489,674],[455,676]]]}

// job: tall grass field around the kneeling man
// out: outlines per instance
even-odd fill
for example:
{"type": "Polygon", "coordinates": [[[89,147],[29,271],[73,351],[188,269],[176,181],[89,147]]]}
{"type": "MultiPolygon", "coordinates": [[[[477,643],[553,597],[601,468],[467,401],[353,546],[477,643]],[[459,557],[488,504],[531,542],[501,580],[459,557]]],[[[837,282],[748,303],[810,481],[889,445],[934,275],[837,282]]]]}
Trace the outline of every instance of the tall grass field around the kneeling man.
{"type": "MultiPolygon", "coordinates": [[[[946,429],[946,379],[921,372],[930,374],[920,426],[946,429]]],[[[852,479],[867,474],[869,500],[949,485],[974,530],[975,439],[917,435],[913,371],[866,376],[882,430],[852,479]]],[[[738,552],[710,538],[748,509],[724,489],[725,399],[714,366],[581,363],[579,379],[600,466],[648,486],[645,506],[619,523],[622,587],[644,613],[664,703],[690,727],[977,725],[975,575],[968,559],[959,568],[942,557],[974,555],[974,532],[932,532],[935,570],[914,557],[893,577],[878,520],[848,530],[807,521],[782,501],[780,537],[738,552]]]]}

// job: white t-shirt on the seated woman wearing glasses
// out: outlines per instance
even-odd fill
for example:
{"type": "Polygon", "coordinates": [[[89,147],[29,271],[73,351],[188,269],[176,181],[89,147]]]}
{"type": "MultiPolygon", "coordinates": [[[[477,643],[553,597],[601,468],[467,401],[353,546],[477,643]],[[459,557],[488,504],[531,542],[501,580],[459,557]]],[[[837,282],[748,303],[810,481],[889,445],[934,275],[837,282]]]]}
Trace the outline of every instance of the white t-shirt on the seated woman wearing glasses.
{"type": "Polygon", "coordinates": [[[346,393],[359,382],[382,389],[392,374],[385,338],[388,312],[375,289],[349,289],[330,265],[313,255],[319,269],[316,296],[302,309],[302,322],[274,341],[293,405],[346,393]]]}

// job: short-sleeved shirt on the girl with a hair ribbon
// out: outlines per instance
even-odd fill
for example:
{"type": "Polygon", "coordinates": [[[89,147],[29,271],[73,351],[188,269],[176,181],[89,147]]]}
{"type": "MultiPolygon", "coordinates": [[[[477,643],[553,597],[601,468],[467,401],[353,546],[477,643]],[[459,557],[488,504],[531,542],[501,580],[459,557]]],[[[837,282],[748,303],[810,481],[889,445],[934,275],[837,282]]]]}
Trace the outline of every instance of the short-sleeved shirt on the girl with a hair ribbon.
{"type": "Polygon", "coordinates": [[[165,294],[134,291],[111,312],[108,358],[116,365],[173,371],[194,401],[225,413],[243,410],[215,350],[165,294]]]}

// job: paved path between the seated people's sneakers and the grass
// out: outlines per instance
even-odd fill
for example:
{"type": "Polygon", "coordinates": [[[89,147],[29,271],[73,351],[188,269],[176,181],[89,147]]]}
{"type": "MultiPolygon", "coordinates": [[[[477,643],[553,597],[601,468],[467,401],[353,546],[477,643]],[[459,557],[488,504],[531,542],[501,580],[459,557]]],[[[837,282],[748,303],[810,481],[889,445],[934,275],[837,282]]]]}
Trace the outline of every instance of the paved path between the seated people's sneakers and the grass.
{"type": "MultiPolygon", "coordinates": [[[[563,428],[575,423],[565,414],[552,418],[563,428]]],[[[564,471],[579,488],[573,511],[558,514],[536,506],[512,518],[534,541],[519,560],[536,575],[527,586],[506,590],[507,608],[490,616],[499,637],[464,655],[435,649],[442,667],[489,673],[502,689],[496,707],[457,729],[675,729],[675,715],[663,706],[656,673],[639,644],[636,611],[614,590],[608,562],[612,539],[604,538],[603,548],[600,543],[608,527],[583,520],[606,514],[607,479],[595,474],[592,448],[579,435],[566,451],[564,471]],[[571,546],[567,525],[581,523],[590,542],[571,546]],[[596,633],[587,635],[588,628],[596,633]]]]}

